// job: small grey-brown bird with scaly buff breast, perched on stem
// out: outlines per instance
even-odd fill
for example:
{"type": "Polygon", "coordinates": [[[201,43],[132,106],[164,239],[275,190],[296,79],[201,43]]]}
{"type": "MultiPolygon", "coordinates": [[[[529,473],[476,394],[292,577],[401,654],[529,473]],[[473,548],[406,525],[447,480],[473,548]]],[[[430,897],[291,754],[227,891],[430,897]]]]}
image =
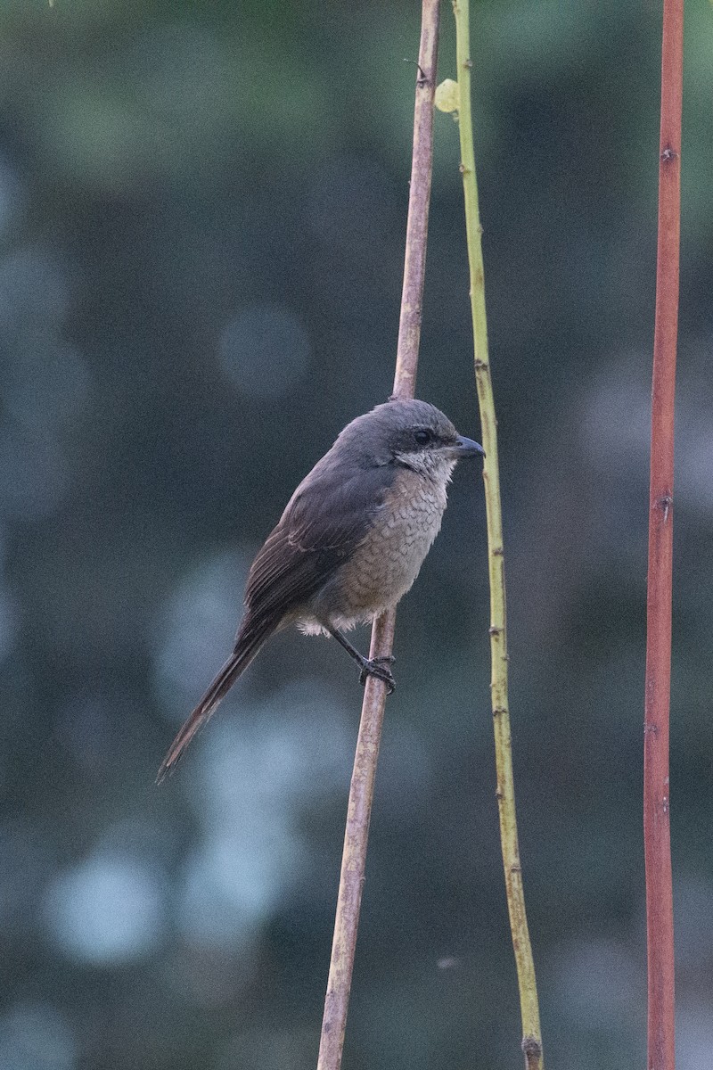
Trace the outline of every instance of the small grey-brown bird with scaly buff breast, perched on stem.
{"type": "Polygon", "coordinates": [[[233,652],[171,744],[186,747],[264,643],[289,625],[332,636],[390,693],[392,657],[367,658],[344,631],[393,608],[435,539],[461,458],[484,457],[428,401],[390,398],[353,419],[288,502],[248,574],[233,652]]]}

